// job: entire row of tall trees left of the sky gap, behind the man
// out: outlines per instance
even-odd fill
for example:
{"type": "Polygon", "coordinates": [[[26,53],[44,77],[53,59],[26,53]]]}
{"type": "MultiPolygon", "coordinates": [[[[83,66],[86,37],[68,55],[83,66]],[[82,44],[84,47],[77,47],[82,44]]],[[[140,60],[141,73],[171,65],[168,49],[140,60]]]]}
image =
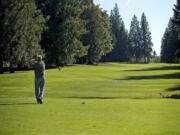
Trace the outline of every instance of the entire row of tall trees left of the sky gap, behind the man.
{"type": "Polygon", "coordinates": [[[93,0],[0,0],[0,68],[24,67],[36,55],[48,65],[99,61],[149,62],[145,14],[125,28],[116,4],[110,15],[93,0]]]}

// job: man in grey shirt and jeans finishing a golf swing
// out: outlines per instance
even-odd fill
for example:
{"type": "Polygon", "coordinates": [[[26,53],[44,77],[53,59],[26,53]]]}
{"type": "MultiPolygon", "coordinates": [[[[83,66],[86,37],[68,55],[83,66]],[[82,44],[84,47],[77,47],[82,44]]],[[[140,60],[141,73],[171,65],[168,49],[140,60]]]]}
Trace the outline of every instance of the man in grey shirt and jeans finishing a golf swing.
{"type": "Polygon", "coordinates": [[[38,104],[43,104],[43,95],[45,87],[45,64],[42,56],[38,55],[33,64],[35,73],[35,96],[38,104]]]}

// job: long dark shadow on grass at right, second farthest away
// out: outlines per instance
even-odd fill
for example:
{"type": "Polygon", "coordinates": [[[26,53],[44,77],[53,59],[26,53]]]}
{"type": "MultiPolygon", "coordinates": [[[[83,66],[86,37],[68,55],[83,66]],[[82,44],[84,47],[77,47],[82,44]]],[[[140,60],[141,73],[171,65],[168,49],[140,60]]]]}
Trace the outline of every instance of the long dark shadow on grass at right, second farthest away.
{"type": "Polygon", "coordinates": [[[124,79],[115,79],[115,80],[145,80],[145,79],[180,79],[180,73],[150,75],[150,76],[127,76],[124,79]]]}

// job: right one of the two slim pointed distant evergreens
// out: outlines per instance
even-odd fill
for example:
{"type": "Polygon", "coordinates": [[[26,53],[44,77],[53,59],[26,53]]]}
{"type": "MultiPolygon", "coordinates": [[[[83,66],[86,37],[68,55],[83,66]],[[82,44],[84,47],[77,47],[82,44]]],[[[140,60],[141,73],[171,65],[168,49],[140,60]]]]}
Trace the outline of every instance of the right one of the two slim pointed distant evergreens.
{"type": "Polygon", "coordinates": [[[149,62],[153,44],[151,41],[152,38],[151,38],[151,32],[149,31],[149,24],[144,13],[142,14],[141,17],[140,26],[142,32],[142,55],[144,57],[144,62],[149,62]]]}

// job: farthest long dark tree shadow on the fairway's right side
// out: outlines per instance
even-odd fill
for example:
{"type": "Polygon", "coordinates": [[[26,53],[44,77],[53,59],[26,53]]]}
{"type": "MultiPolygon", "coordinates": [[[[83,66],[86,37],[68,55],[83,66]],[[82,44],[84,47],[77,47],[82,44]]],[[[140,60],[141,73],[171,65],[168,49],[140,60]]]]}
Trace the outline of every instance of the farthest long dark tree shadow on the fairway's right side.
{"type": "Polygon", "coordinates": [[[126,71],[154,71],[154,70],[180,70],[180,65],[179,66],[154,67],[154,68],[138,69],[138,70],[126,70],[126,71]]]}

